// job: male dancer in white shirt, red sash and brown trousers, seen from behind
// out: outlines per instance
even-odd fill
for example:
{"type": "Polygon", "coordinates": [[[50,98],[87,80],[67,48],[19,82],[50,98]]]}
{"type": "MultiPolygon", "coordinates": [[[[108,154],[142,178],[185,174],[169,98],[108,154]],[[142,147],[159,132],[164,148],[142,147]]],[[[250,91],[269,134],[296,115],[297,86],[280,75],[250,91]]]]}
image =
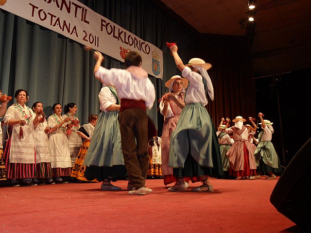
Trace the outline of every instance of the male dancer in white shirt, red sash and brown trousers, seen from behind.
{"type": "Polygon", "coordinates": [[[141,68],[142,59],[136,51],[126,54],[126,69],[101,67],[104,57],[98,51],[94,52],[94,58],[95,77],[102,83],[115,86],[121,99],[119,122],[122,152],[129,180],[135,187],[129,194],[145,195],[152,192],[145,184],[149,166],[146,108],[151,109],[154,104],[155,87],[148,73],[141,68]]]}

